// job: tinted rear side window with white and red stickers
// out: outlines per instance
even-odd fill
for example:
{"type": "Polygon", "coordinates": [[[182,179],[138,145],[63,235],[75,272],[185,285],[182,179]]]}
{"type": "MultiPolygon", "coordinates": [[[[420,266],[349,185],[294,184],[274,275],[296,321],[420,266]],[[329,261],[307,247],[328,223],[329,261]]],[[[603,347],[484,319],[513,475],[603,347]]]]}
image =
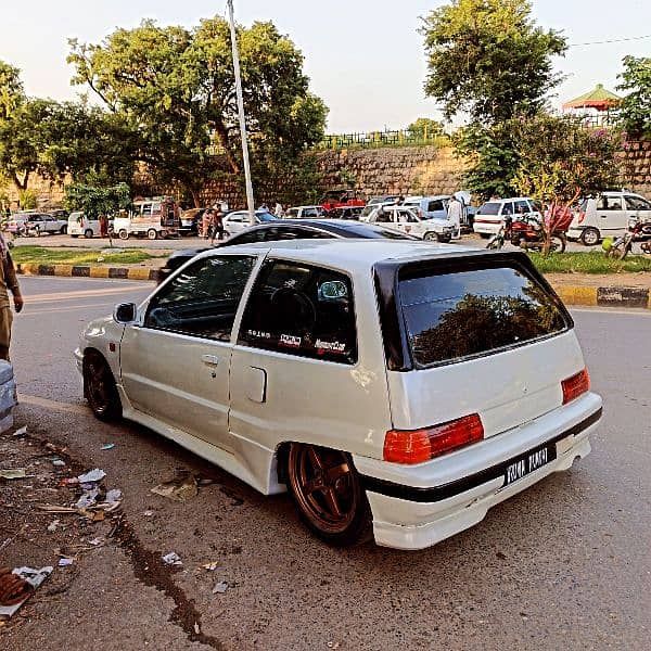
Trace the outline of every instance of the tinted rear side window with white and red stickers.
{"type": "Polygon", "coordinates": [[[321,267],[269,260],[248,298],[238,343],[355,363],[357,331],[350,279],[321,267]]]}

